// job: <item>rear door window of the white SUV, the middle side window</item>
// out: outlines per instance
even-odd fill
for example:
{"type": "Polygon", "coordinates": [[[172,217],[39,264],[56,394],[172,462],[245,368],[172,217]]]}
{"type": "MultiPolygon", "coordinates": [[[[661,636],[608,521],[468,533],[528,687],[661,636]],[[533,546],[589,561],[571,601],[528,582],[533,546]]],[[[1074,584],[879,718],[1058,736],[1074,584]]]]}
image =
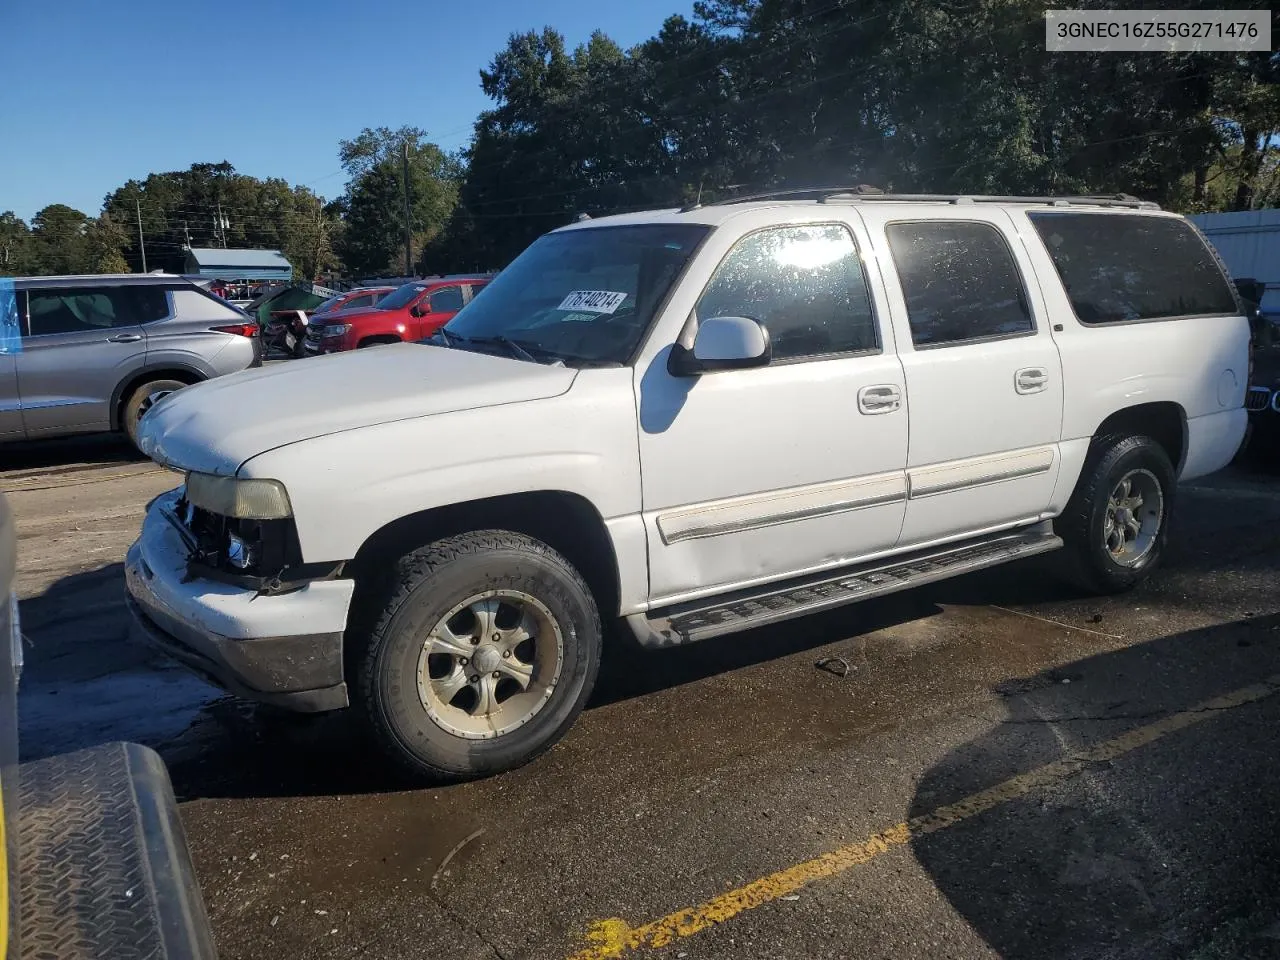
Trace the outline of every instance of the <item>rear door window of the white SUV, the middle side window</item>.
{"type": "Polygon", "coordinates": [[[887,224],[884,234],[916,347],[1036,329],[1012,251],[991,224],[911,220],[887,224]]]}

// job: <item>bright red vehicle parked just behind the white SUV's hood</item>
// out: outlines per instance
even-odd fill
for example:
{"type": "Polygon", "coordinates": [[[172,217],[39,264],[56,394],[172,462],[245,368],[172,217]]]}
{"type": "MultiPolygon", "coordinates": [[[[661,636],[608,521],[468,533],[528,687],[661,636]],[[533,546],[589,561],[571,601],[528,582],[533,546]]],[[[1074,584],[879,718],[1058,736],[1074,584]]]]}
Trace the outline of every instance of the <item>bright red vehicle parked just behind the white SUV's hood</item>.
{"type": "Polygon", "coordinates": [[[307,324],[306,352],[315,356],[425,339],[453,319],[490,279],[476,274],[430,276],[406,283],[371,308],[323,314],[307,324]]]}

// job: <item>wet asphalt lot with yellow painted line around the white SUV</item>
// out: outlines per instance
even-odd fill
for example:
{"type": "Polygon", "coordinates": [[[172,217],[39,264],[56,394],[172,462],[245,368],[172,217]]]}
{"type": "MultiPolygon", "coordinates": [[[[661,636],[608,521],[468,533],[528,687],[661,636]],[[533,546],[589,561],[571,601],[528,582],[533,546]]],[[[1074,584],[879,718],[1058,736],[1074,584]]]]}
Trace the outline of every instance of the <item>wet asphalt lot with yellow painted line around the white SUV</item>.
{"type": "Polygon", "coordinates": [[[1123,598],[1046,557],[614,637],[562,745],[440,790],[137,643],[120,559],[175,480],[108,442],[6,451],[20,737],[161,753],[225,959],[1280,956],[1280,479],[1184,488],[1123,598]]]}

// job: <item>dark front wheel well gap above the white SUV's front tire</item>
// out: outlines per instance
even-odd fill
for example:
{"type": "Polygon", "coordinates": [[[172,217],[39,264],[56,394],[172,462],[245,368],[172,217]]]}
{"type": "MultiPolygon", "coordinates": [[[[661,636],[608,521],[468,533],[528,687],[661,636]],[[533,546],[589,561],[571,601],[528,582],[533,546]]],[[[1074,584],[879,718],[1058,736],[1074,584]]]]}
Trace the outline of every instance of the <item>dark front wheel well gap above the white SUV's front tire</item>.
{"type": "Polygon", "coordinates": [[[399,557],[468,530],[511,530],[541,540],[582,576],[602,620],[617,614],[618,564],[604,520],[589,500],[563,490],[488,497],[392,521],[365,540],[348,564],[356,579],[356,602],[376,596],[381,577],[393,571],[399,557]]]}

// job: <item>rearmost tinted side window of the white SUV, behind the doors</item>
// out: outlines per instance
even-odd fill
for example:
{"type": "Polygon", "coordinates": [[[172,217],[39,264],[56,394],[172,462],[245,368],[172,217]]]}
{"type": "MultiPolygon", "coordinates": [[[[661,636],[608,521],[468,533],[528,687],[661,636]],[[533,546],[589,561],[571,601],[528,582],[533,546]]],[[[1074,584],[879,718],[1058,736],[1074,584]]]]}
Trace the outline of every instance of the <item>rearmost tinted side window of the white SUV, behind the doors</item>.
{"type": "Polygon", "coordinates": [[[1138,214],[1028,216],[1083,323],[1238,312],[1213,253],[1185,220],[1138,214]]]}

